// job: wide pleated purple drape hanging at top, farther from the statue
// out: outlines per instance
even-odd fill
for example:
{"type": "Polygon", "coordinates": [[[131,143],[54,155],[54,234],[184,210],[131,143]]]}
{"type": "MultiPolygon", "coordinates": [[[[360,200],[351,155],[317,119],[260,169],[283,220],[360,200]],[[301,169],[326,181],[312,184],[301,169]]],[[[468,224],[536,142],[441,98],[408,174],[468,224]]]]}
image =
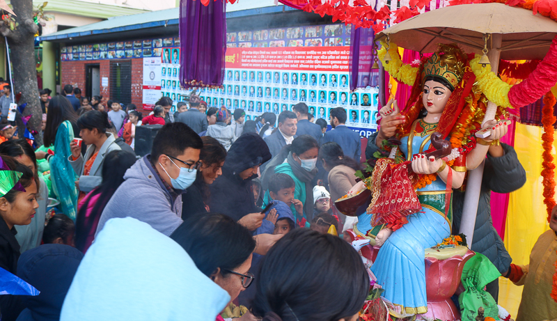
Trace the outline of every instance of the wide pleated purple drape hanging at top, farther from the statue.
{"type": "Polygon", "coordinates": [[[226,3],[180,0],[180,83],[220,87],[226,53],[226,3]]]}

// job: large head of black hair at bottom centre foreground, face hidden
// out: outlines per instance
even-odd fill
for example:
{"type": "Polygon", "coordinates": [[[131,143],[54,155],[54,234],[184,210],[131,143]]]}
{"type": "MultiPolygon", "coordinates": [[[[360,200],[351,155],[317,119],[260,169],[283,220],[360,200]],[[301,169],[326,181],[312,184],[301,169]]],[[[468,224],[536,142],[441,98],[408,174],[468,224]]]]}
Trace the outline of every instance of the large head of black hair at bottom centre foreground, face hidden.
{"type": "Polygon", "coordinates": [[[361,310],[370,281],[350,244],[297,228],[263,258],[256,286],[257,318],[275,320],[269,313],[276,313],[283,321],[340,320],[361,310]]]}

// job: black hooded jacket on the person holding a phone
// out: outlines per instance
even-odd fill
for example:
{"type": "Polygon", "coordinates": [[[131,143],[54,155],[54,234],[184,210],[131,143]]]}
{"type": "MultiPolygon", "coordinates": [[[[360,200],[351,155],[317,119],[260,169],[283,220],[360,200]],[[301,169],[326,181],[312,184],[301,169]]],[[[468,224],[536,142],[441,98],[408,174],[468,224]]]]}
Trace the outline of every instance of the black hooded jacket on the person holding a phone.
{"type": "Polygon", "coordinates": [[[226,157],[222,175],[210,185],[211,212],[226,214],[236,221],[246,214],[260,212],[256,207],[251,180],[242,180],[239,174],[253,166],[260,166],[271,159],[271,152],[256,133],[243,134],[238,138],[226,157]]]}

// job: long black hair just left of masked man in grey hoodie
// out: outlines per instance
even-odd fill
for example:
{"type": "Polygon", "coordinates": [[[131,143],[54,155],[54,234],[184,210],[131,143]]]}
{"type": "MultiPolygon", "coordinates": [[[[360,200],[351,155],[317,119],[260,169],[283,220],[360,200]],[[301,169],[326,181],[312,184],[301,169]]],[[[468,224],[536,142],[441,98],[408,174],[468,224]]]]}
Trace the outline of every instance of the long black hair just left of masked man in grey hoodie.
{"type": "Polygon", "coordinates": [[[95,222],[98,223],[102,210],[109,203],[116,189],[124,182],[125,172],[135,164],[136,160],[134,154],[125,150],[113,150],[104,156],[102,182],[88,195],[85,203],[79,208],[79,213],[75,220],[75,247],[79,251],[84,251],[89,233],[93,228],[96,229],[96,226],[94,226],[95,222]],[[91,198],[95,195],[98,195],[97,201],[95,201],[89,216],[86,217],[88,205],[91,202],[91,198]]]}

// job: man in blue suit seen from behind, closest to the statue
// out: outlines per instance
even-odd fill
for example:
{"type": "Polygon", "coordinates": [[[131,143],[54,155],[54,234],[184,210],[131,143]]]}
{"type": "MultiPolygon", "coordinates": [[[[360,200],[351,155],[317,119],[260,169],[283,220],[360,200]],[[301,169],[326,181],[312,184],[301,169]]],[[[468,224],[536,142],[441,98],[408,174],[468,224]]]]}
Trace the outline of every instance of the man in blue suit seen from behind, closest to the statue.
{"type": "Polygon", "coordinates": [[[350,156],[360,162],[361,141],[360,135],[346,127],[346,109],[337,107],[331,109],[330,120],[333,130],[326,132],[321,139],[321,143],[334,141],[343,148],[344,155],[350,156]]]}

